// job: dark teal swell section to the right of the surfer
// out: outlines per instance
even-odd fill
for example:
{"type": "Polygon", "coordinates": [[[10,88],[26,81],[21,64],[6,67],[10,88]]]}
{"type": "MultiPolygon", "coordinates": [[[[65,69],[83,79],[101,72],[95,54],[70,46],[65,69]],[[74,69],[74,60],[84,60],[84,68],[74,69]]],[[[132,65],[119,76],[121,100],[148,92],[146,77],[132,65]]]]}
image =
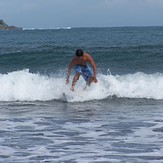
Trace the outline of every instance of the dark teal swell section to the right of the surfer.
{"type": "Polygon", "coordinates": [[[95,47],[91,52],[102,72],[113,74],[163,72],[163,46],[95,47]]]}

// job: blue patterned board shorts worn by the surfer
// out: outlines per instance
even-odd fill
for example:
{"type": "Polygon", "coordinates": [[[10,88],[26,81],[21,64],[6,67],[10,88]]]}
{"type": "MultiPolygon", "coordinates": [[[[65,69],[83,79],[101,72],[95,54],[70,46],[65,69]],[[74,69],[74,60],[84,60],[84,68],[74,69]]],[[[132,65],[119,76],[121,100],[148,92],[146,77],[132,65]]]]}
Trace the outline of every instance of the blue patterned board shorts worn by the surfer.
{"type": "Polygon", "coordinates": [[[77,73],[80,73],[86,82],[89,82],[90,78],[93,76],[92,69],[89,65],[86,66],[75,65],[74,70],[77,73]]]}

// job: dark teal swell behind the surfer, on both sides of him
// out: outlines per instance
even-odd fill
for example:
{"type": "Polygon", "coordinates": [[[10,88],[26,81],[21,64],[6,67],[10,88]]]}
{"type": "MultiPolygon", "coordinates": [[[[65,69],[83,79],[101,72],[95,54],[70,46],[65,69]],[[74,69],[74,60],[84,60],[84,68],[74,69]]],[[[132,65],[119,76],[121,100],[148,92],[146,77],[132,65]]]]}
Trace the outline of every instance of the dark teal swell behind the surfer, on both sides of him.
{"type": "MultiPolygon", "coordinates": [[[[84,47],[83,47],[84,48],[84,47]]],[[[9,49],[0,55],[1,73],[30,69],[32,72],[54,72],[66,69],[69,65],[75,46],[54,46],[44,44],[34,48],[9,49]]],[[[116,46],[116,47],[85,47],[94,58],[99,72],[106,72],[110,68],[113,74],[134,72],[163,72],[163,46],[116,46]]]]}

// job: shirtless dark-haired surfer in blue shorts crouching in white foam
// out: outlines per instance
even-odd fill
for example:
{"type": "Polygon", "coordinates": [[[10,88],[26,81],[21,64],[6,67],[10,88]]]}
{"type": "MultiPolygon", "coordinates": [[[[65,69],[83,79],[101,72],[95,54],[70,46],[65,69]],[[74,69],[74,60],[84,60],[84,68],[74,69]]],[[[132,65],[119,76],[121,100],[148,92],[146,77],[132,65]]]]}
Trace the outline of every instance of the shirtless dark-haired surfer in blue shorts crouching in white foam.
{"type": "Polygon", "coordinates": [[[96,64],[88,53],[84,53],[83,50],[81,49],[76,50],[75,56],[70,62],[70,65],[68,68],[66,84],[69,83],[69,77],[70,77],[72,68],[74,68],[75,73],[76,73],[72,81],[72,87],[71,87],[72,91],[74,91],[75,84],[77,80],[79,79],[80,75],[83,76],[87,85],[90,85],[92,82],[97,83],[96,64]],[[93,71],[88,63],[90,63],[93,71]]]}

